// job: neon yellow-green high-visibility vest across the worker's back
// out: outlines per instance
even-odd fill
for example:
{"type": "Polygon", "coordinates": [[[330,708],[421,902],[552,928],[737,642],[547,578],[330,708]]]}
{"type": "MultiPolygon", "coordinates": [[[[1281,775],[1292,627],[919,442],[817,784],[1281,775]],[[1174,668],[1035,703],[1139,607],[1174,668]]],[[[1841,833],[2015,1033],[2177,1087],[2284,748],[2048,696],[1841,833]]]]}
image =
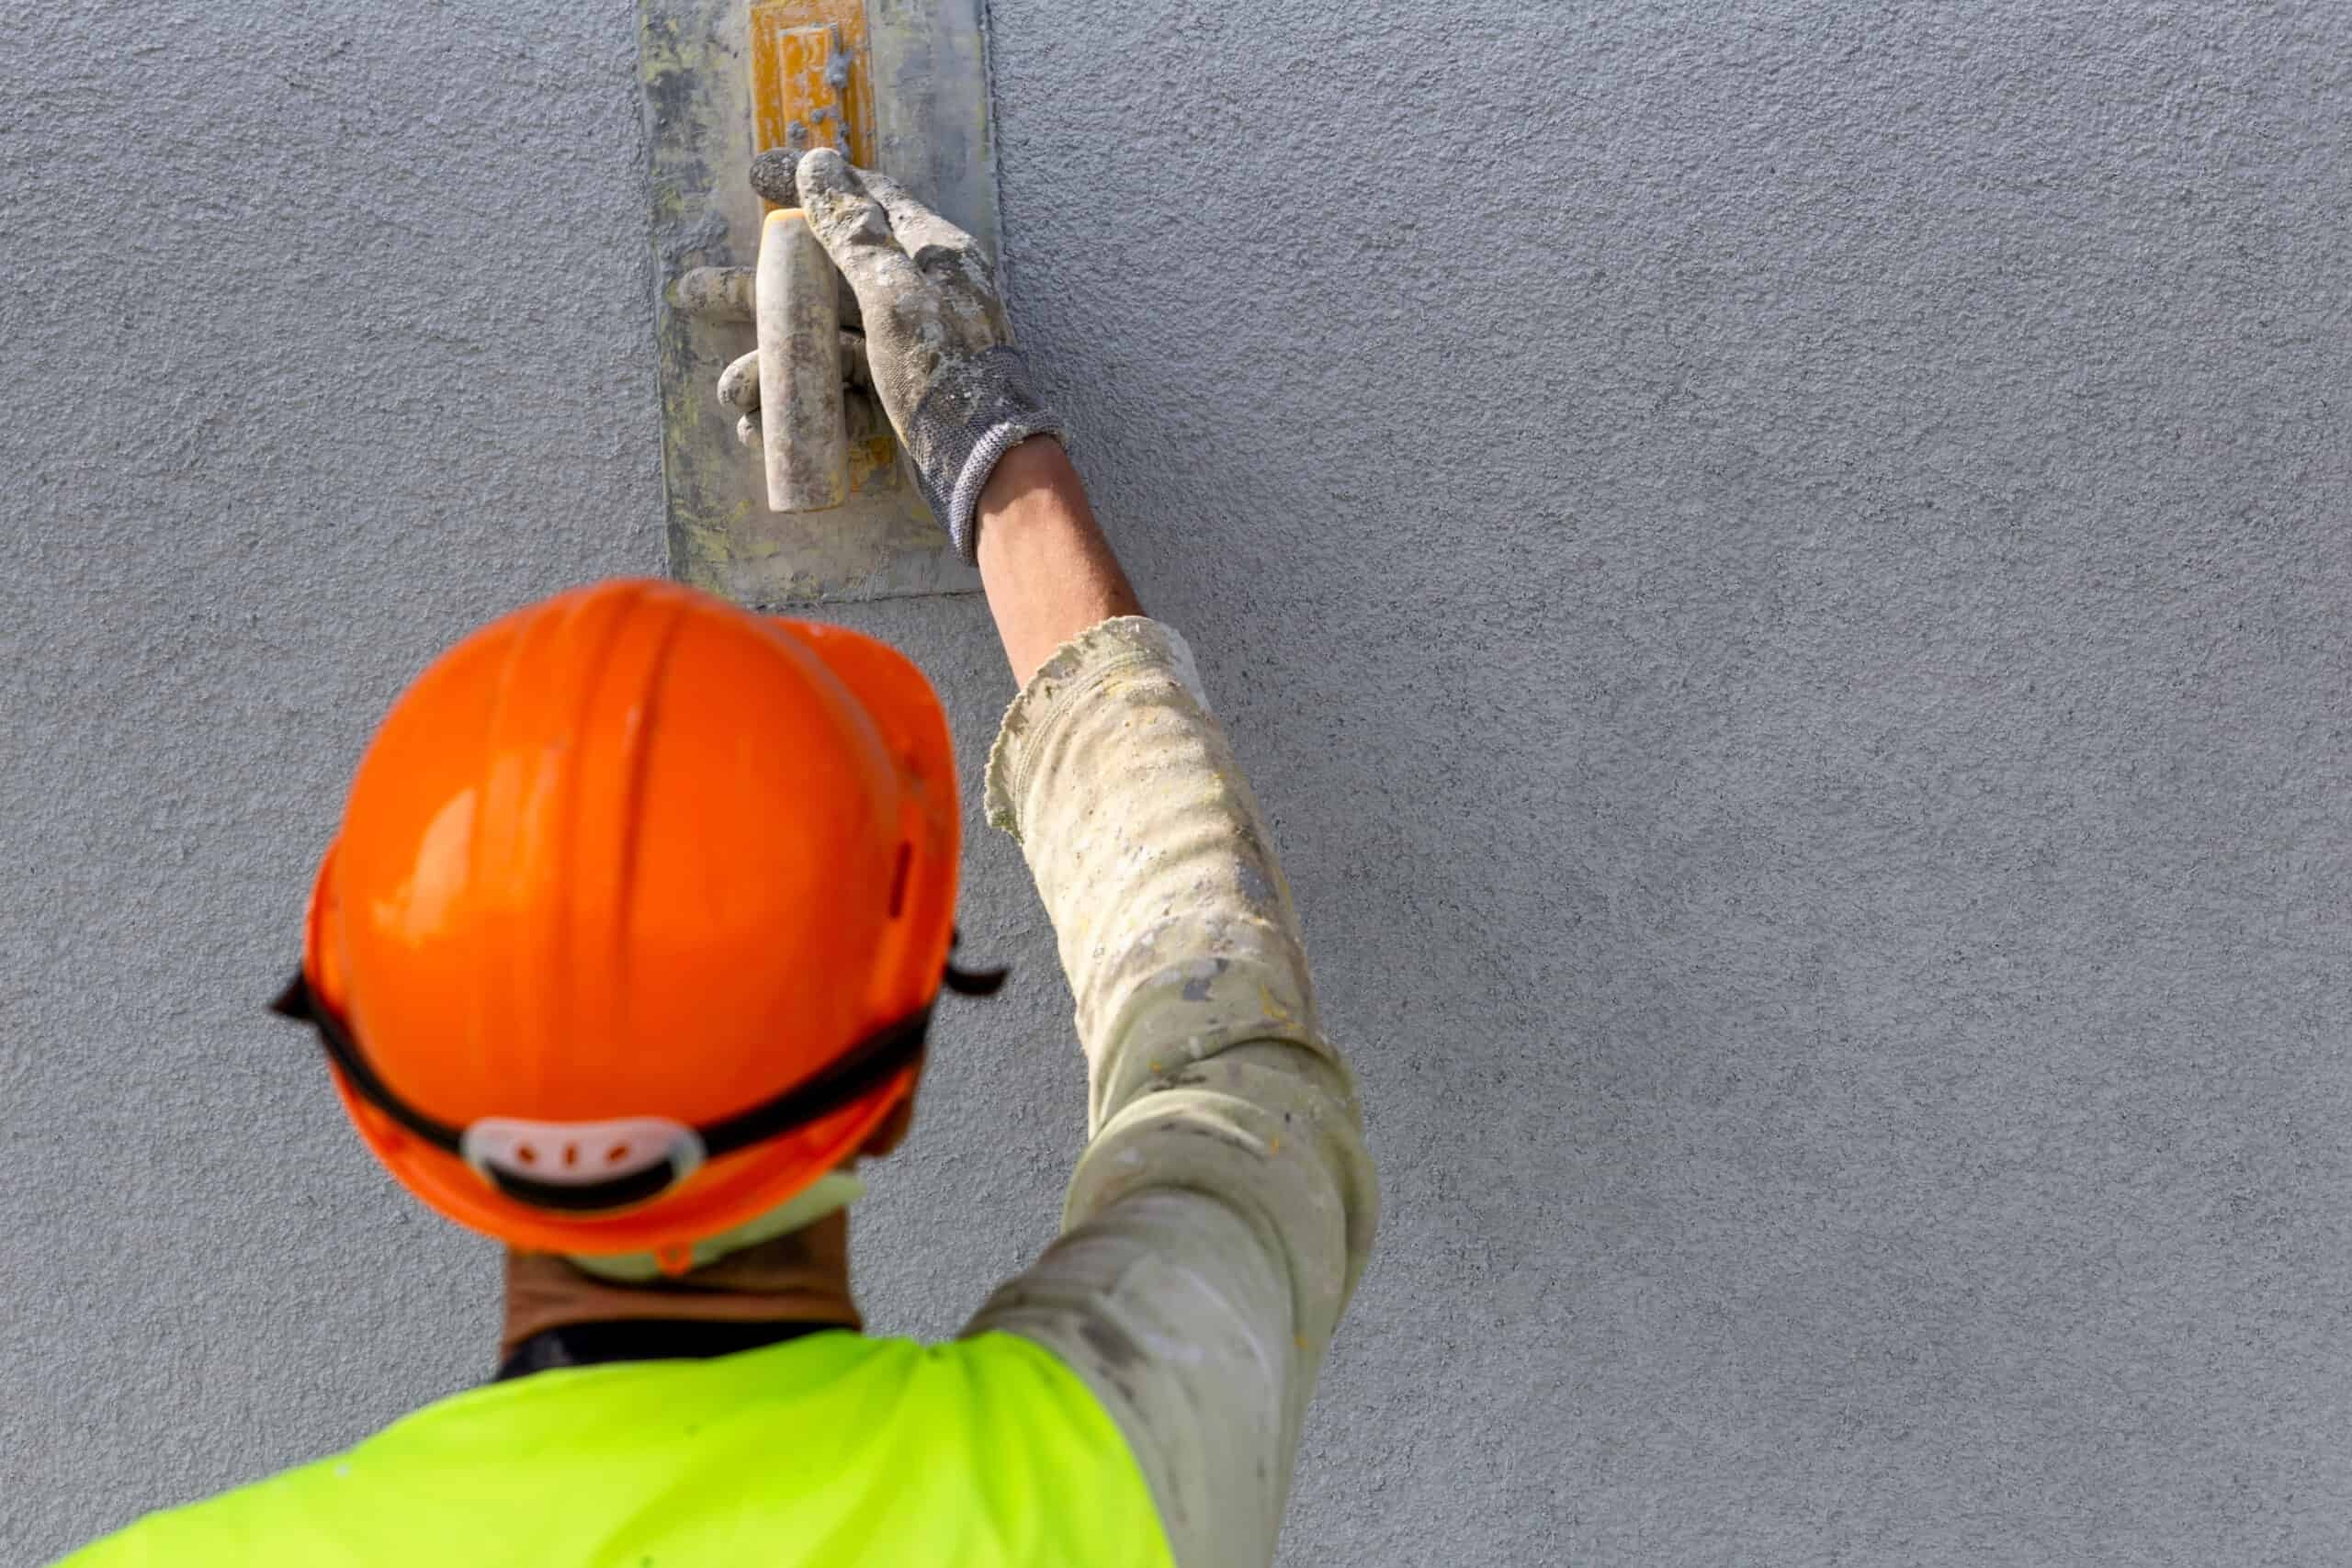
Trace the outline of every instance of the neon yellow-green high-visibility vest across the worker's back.
{"type": "Polygon", "coordinates": [[[66,1563],[1171,1568],[1117,1427],[1009,1333],[534,1373],[66,1563]]]}

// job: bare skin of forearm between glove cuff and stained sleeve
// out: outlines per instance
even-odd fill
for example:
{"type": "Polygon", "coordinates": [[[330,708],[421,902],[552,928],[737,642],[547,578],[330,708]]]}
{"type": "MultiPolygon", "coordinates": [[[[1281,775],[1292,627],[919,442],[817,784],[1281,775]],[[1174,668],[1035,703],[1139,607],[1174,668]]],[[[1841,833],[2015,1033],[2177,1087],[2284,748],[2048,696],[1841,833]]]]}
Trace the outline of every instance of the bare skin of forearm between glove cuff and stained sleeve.
{"type": "Polygon", "coordinates": [[[1028,684],[1089,625],[1143,614],[1054,437],[1025,440],[997,461],[978,522],[981,583],[1016,682],[1028,684]]]}

